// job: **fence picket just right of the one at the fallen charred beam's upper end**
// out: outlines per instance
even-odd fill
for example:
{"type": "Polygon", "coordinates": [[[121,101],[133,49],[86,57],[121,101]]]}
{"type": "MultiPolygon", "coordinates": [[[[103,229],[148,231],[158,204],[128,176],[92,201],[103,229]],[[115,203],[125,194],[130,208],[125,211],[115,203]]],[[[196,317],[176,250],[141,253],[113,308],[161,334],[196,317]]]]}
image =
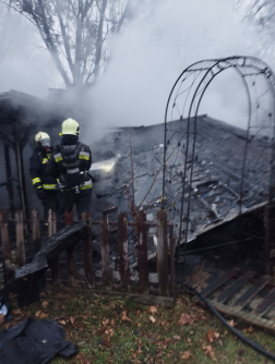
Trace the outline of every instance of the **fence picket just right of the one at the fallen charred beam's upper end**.
{"type": "Polygon", "coordinates": [[[111,290],[111,267],[109,247],[109,227],[104,220],[100,221],[101,238],[101,262],[103,262],[103,284],[106,290],[111,290]]]}

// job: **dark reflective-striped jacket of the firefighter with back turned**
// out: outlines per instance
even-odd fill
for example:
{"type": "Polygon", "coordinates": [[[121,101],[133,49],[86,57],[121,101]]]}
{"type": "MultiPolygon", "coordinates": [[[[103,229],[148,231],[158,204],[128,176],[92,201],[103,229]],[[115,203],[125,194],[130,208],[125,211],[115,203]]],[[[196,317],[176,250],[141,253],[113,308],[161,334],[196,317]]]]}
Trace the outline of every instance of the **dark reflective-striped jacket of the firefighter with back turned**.
{"type": "Polygon", "coordinates": [[[70,191],[76,185],[80,190],[88,190],[93,187],[88,174],[91,166],[92,153],[89,147],[80,143],[77,136],[67,135],[61,139],[61,144],[52,150],[48,170],[51,175],[59,178],[65,191],[70,191]],[[76,178],[77,174],[80,179],[76,178]]]}

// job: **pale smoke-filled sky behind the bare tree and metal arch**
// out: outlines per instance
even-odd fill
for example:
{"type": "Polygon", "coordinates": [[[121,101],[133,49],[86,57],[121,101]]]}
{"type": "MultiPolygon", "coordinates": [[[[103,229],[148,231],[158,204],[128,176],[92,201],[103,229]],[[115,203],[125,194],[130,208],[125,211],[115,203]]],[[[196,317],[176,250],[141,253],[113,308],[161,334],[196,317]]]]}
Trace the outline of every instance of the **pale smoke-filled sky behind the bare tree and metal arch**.
{"type": "MultiPolygon", "coordinates": [[[[29,23],[10,12],[1,27],[0,92],[13,88],[45,98],[48,88],[62,87],[29,23]]],[[[91,126],[162,123],[170,89],[188,65],[243,54],[262,58],[274,68],[262,44],[258,29],[243,22],[236,0],[158,0],[146,16],[111,39],[110,61],[88,95],[91,126]]],[[[200,109],[239,126],[246,125],[246,112],[243,86],[230,71],[213,82],[200,109]]]]}

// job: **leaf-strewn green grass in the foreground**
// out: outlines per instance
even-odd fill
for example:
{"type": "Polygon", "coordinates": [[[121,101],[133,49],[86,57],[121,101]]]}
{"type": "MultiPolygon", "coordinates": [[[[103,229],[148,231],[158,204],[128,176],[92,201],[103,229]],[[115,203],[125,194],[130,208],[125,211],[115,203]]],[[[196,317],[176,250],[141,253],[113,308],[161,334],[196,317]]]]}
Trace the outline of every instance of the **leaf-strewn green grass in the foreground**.
{"type": "MultiPolygon", "coordinates": [[[[44,294],[40,302],[15,310],[13,319],[0,325],[0,329],[29,316],[58,320],[65,339],[77,345],[75,356],[69,361],[56,357],[53,364],[272,363],[183,295],[169,310],[115,298],[44,294]],[[189,315],[186,325],[179,324],[182,314],[189,315]]],[[[240,323],[237,328],[275,352],[273,336],[240,323]]]]}

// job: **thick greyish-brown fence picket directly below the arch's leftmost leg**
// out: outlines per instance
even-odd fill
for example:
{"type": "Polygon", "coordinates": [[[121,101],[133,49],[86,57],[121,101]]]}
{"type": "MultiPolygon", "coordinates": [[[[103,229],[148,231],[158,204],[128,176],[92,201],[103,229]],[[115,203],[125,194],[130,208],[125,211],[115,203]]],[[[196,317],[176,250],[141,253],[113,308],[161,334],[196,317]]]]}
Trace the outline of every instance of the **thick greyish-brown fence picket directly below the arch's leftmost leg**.
{"type": "Polygon", "coordinates": [[[168,246],[167,246],[167,215],[157,211],[157,272],[158,294],[169,294],[168,246]]]}

